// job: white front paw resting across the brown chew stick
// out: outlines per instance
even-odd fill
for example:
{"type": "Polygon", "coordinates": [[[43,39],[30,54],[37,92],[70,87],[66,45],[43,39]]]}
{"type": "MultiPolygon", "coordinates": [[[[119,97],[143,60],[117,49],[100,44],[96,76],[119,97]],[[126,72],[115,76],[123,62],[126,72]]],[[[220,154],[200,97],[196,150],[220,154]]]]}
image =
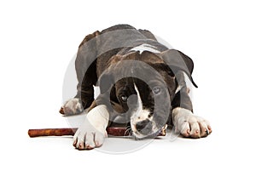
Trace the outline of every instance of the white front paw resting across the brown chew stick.
{"type": "Polygon", "coordinates": [[[85,121],[73,136],[73,146],[78,150],[94,149],[102,146],[107,136],[103,127],[96,128],[90,122],[85,121]]]}

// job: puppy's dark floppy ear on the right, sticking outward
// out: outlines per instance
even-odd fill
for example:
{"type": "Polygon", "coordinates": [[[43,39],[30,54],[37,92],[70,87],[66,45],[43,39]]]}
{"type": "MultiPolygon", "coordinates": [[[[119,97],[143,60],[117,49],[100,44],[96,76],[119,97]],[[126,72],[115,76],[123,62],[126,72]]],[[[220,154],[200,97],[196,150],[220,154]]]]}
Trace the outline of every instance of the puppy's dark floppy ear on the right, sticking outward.
{"type": "Polygon", "coordinates": [[[195,88],[197,88],[197,85],[191,76],[194,69],[194,63],[193,60],[189,58],[189,56],[175,49],[168,49],[162,52],[160,55],[166,62],[166,65],[172,69],[174,74],[176,74],[178,71],[184,71],[188,75],[195,88]]]}

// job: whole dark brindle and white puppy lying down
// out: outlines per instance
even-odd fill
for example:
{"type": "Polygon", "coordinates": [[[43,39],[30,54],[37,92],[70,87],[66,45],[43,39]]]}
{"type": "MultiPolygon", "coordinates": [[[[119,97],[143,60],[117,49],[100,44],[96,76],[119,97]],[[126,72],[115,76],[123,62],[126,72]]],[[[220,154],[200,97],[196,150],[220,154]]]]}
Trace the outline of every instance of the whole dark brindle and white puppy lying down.
{"type": "Polygon", "coordinates": [[[186,74],[195,85],[193,61],[166,48],[150,31],[129,25],[95,31],[79,45],[75,66],[78,93],[61,113],[88,108],[87,121],[73,138],[79,150],[101,146],[113,124],[127,126],[136,139],[155,137],[166,123],[184,137],[212,132],[207,120],[193,114],[184,80],[186,74]],[[96,99],[94,86],[101,91],[96,99]]]}

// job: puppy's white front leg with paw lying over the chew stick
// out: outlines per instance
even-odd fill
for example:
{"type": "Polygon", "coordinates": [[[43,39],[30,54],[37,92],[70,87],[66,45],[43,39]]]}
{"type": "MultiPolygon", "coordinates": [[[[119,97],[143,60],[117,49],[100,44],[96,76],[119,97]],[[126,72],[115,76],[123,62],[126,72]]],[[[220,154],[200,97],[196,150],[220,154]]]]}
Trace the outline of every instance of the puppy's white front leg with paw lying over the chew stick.
{"type": "Polygon", "coordinates": [[[97,105],[89,111],[76,134],[73,136],[73,146],[79,150],[94,149],[103,144],[108,136],[109,113],[106,105],[97,105]]]}

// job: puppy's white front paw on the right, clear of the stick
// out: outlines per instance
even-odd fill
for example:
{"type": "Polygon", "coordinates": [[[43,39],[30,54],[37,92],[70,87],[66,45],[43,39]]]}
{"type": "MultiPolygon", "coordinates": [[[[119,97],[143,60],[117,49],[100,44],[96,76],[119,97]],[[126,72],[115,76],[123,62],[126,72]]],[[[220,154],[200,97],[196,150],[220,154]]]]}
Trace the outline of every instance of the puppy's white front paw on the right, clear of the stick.
{"type": "Polygon", "coordinates": [[[210,123],[191,111],[177,107],[172,111],[172,122],[177,133],[184,137],[201,138],[212,133],[210,123]]]}

